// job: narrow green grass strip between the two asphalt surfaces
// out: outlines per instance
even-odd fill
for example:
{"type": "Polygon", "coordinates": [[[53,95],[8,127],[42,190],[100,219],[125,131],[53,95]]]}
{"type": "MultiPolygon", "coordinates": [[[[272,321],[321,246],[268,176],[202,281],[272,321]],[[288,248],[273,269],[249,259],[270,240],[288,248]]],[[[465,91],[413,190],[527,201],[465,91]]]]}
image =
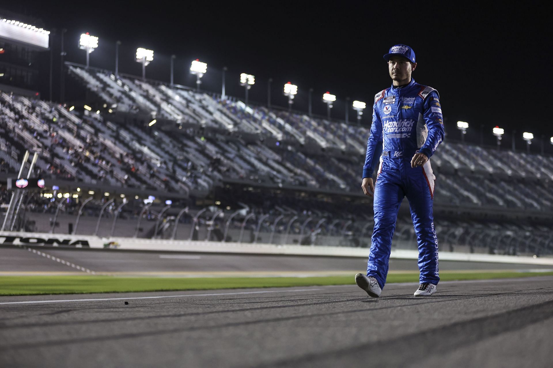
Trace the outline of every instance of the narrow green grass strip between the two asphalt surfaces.
{"type": "MultiPolygon", "coordinates": [[[[0,295],[51,295],[233,288],[351,285],[351,276],[165,278],[116,276],[0,276],[0,295]]],[[[442,272],[442,281],[553,276],[553,272],[442,272]]],[[[387,282],[418,282],[416,272],[389,274],[387,282]]]]}

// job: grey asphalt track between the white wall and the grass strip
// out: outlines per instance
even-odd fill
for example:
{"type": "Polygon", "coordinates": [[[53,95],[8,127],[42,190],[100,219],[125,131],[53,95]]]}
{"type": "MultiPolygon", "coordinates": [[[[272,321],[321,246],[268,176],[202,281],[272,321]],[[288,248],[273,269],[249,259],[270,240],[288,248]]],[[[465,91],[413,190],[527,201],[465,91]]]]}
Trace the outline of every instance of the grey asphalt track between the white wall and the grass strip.
{"type": "MultiPolygon", "coordinates": [[[[160,276],[275,276],[355,274],[367,268],[367,258],[325,256],[281,256],[244,254],[156,253],[147,251],[74,250],[34,247],[41,256],[28,249],[0,247],[0,275],[82,274],[70,264],[97,274],[160,276]],[[47,257],[49,256],[49,257],[47,257]],[[66,261],[62,264],[55,261],[66,261]],[[68,265],[69,264],[69,265],[68,265]]],[[[368,249],[367,249],[368,256],[368,249]]],[[[440,261],[440,271],[457,270],[553,270],[553,266],[504,264],[491,262],[440,261]]],[[[418,271],[416,260],[390,259],[390,272],[418,271]]]]}

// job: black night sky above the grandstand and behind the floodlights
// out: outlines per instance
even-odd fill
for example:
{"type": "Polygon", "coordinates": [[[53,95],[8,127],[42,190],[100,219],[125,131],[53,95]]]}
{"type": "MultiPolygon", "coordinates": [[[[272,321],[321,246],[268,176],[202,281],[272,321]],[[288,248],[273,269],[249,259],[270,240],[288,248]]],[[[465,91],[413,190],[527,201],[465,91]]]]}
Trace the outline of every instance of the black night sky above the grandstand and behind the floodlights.
{"type": "MultiPolygon", "coordinates": [[[[413,77],[440,92],[448,134],[458,138],[457,120],[471,124],[467,139],[493,143],[495,125],[509,134],[517,129],[553,135],[548,110],[551,93],[550,20],[539,7],[492,9],[465,3],[455,9],[438,2],[83,2],[52,7],[48,2],[3,4],[4,8],[40,18],[52,30],[54,93],[59,98],[60,29],[66,28],[66,60],[85,64],[77,48],[79,35],[100,38],[91,66],[114,70],[115,42],[121,40],[119,71],[140,75],[137,47],[154,50],[148,78],[169,81],[170,55],[175,83],[193,87],[190,61],[207,62],[202,88],[221,92],[221,69],[227,71],[227,94],[242,98],[239,73],[255,75],[250,100],[267,101],[273,78],[273,104],[286,106],[282,85],[298,85],[294,109],[307,111],[314,89],[314,113],[326,114],[322,93],[336,94],[333,117],[345,114],[345,98],[366,101],[389,87],[382,55],[404,43],[416,53],[413,77]],[[86,5],[85,5],[86,4],[86,5]],[[145,6],[145,4],[152,4],[145,6]],[[57,73],[57,74],[56,74],[57,73]],[[56,77],[57,76],[57,77],[56,77]],[[545,102],[545,103],[544,103],[545,102]]],[[[69,4],[69,3],[68,3],[69,4]]],[[[349,112],[350,120],[355,112],[349,112]]],[[[370,113],[363,122],[370,124],[370,113]]],[[[508,136],[505,138],[509,139],[508,136]]],[[[521,141],[521,140],[520,140],[521,141]]],[[[519,144],[519,143],[517,143],[519,144]]],[[[533,145],[534,146],[534,145],[533,145]]]]}

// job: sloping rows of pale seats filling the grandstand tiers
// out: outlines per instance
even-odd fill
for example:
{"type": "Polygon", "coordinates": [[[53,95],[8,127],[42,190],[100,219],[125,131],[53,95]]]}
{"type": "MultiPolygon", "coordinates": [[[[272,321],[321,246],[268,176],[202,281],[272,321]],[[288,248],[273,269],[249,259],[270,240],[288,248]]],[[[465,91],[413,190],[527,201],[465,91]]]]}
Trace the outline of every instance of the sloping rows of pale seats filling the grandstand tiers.
{"type": "MultiPolygon", "coordinates": [[[[69,71],[106,108],[98,113],[82,111],[82,108],[70,109],[1,92],[0,166],[3,172],[17,172],[24,151],[35,150],[40,153],[36,162],[39,175],[158,190],[168,196],[193,191],[209,193],[229,180],[275,188],[359,192],[369,134],[365,127],[252,104],[246,106],[242,101],[222,100],[215,95],[162,83],[116,78],[108,72],[76,66],[69,66],[69,71]],[[114,114],[107,112],[108,108],[114,114]],[[160,123],[149,127],[145,123],[117,119],[117,113],[145,117],[148,121],[162,119],[173,125],[160,123]]],[[[553,209],[553,157],[446,141],[431,161],[437,177],[436,204],[535,212],[553,209]]],[[[248,200],[254,202],[251,195],[248,200]]],[[[258,224],[259,233],[267,235],[281,212],[274,210],[278,203],[270,203],[270,208],[262,203],[252,208],[257,208],[256,218],[262,213],[269,215],[258,224]]],[[[362,209],[333,208],[328,204],[321,207],[320,204],[309,204],[310,211],[319,212],[312,214],[313,219],[305,226],[326,240],[319,241],[312,233],[309,241],[299,239],[305,235],[300,234],[300,220],[290,229],[296,240],[341,244],[348,238],[346,234],[350,234],[351,239],[357,239],[357,245],[368,244],[367,236],[371,232],[366,228],[367,219],[356,224],[352,215],[362,209]],[[322,218],[325,222],[315,230],[322,218]],[[331,219],[339,219],[332,228],[331,219]],[[360,233],[367,236],[359,236],[360,233]],[[357,238],[354,234],[358,234],[357,238]],[[331,240],[332,236],[337,238],[331,240]]],[[[295,206],[293,202],[281,205],[292,209],[287,218],[307,208],[295,206]]],[[[46,203],[45,207],[35,208],[46,211],[52,206],[46,203]]],[[[134,211],[131,217],[138,213],[134,211]]],[[[310,215],[300,217],[305,221],[310,215]]],[[[282,220],[275,228],[275,239],[285,231],[284,225],[282,220]]],[[[479,234],[488,234],[495,240],[497,234],[512,234],[514,239],[515,234],[531,232],[539,239],[536,241],[542,251],[551,246],[544,235],[547,231],[536,227],[528,230],[516,224],[497,227],[462,221],[442,225],[450,229],[446,238],[453,248],[472,244],[471,229],[478,227],[483,227],[479,234]]],[[[403,223],[400,219],[397,234],[397,241],[413,243],[414,233],[409,222],[403,223]]],[[[518,251],[521,248],[532,251],[532,246],[538,246],[523,245],[517,243],[518,251]]],[[[512,251],[499,246],[497,243],[493,251],[512,251]]]]}

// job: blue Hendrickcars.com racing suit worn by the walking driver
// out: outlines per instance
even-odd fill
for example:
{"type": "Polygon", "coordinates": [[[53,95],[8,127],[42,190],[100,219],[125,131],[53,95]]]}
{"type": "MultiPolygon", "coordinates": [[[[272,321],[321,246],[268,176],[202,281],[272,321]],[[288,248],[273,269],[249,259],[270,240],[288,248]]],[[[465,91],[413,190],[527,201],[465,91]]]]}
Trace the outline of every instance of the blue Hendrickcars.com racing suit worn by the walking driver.
{"type": "Polygon", "coordinates": [[[438,242],[434,230],[434,179],[430,160],[411,167],[417,152],[429,159],[444,139],[439,94],[413,79],[401,88],[393,86],[374,97],[371,136],[363,178],[372,177],[380,158],[374,186],[374,230],[367,264],[367,276],[384,287],[395,223],[403,197],[407,197],[419,245],[420,282],[434,285],[438,274],[438,242]],[[381,153],[382,152],[382,153],[381,153]]]}

